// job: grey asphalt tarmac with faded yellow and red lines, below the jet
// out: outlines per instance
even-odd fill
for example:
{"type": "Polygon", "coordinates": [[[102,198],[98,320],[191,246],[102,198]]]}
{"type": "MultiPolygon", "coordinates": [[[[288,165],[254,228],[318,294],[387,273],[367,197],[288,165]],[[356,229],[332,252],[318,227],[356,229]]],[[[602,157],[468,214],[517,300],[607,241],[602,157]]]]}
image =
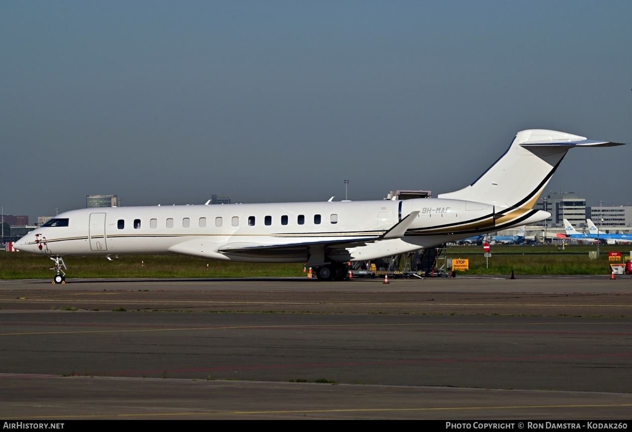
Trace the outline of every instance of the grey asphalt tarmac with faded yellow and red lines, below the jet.
{"type": "Polygon", "coordinates": [[[632,278],[0,280],[0,419],[630,419],[632,278]]]}

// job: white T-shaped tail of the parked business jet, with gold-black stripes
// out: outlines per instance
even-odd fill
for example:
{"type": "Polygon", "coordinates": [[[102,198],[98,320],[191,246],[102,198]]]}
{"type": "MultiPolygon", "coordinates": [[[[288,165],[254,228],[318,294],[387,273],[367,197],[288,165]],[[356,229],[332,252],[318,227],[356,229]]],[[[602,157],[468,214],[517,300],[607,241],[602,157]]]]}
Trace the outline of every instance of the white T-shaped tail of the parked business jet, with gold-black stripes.
{"type": "Polygon", "coordinates": [[[497,209],[504,208],[499,212],[504,216],[525,212],[533,208],[569,149],[615,145],[623,143],[593,141],[545,129],[521,131],[504,155],[474,183],[439,198],[493,204],[497,209]]]}

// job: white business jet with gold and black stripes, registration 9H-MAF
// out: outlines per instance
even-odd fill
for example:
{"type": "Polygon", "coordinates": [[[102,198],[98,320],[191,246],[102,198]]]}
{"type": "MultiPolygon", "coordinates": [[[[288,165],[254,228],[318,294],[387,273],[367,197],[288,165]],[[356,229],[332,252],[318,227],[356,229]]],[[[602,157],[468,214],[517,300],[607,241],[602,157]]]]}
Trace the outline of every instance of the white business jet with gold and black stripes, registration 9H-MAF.
{"type": "Polygon", "coordinates": [[[14,247],[55,261],[55,283],[64,282],[64,256],[159,253],[304,262],[320,280],[341,280],[347,261],[540,222],[550,213],[533,205],[566,152],[615,145],[621,143],[532,129],[519,132],[470,186],[438,198],[84,208],[57,215],[14,247]]]}

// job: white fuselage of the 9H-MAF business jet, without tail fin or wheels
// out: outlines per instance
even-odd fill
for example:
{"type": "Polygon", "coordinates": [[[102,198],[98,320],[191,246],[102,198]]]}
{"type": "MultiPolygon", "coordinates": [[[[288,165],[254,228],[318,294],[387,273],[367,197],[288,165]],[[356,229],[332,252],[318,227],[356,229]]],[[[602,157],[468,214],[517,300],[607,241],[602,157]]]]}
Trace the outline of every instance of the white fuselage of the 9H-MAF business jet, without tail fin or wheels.
{"type": "MultiPolygon", "coordinates": [[[[20,240],[19,249],[51,256],[178,253],[214,260],[305,262],[320,253],[332,261],[371,260],[494,231],[494,210],[499,209],[439,198],[86,208],[59,214],[56,219],[68,219],[68,226],[35,229],[20,240]],[[380,239],[415,211],[419,213],[406,234],[380,239]],[[323,251],[327,242],[337,243],[323,251]],[[312,249],[305,246],[310,244],[312,249]]],[[[545,217],[529,210],[514,224],[505,221],[502,226],[545,217]]]]}

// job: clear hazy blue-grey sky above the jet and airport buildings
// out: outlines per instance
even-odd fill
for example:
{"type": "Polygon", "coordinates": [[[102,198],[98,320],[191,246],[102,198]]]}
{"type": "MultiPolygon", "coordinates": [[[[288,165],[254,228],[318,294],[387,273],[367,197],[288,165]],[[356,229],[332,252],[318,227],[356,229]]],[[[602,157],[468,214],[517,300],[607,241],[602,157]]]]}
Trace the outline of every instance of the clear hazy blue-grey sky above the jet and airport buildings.
{"type": "MultiPolygon", "coordinates": [[[[632,143],[629,1],[0,0],[7,214],[381,199],[471,183],[522,129],[632,143]]],[[[632,203],[632,145],[547,190],[632,203]]]]}

